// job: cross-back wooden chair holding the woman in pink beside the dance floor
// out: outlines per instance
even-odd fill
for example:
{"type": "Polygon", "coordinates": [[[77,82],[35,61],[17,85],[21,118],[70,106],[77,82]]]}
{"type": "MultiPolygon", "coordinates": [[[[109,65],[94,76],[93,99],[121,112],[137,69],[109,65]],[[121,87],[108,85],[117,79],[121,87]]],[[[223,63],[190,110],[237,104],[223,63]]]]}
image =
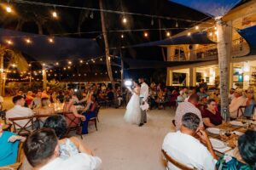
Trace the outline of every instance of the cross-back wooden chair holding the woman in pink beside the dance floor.
{"type": "MultiPolygon", "coordinates": [[[[81,127],[81,119],[79,117],[74,116],[72,112],[62,113],[67,122],[67,134],[71,131],[76,131],[77,133],[80,131],[81,127]]],[[[82,133],[79,132],[81,139],[83,139],[82,133]]]]}

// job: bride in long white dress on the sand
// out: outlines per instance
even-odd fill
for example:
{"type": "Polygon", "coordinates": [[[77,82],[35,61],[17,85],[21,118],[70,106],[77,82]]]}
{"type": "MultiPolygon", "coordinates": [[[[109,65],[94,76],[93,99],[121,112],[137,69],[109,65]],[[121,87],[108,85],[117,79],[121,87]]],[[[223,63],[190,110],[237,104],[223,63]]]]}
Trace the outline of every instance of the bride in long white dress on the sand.
{"type": "Polygon", "coordinates": [[[131,89],[128,88],[131,91],[131,99],[126,106],[125,111],[125,122],[131,123],[131,124],[140,124],[141,122],[141,108],[140,108],[140,85],[137,82],[133,82],[133,85],[135,88],[131,89]]]}

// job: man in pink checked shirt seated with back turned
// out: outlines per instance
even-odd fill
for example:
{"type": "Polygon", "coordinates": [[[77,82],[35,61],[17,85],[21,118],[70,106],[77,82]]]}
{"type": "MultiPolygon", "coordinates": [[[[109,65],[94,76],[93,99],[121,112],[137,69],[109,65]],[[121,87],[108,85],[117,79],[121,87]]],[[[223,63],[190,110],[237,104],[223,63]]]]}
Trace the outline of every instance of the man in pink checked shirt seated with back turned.
{"type": "Polygon", "coordinates": [[[203,122],[201,118],[201,111],[196,107],[198,105],[199,97],[197,94],[192,94],[189,97],[189,101],[184,101],[180,105],[177,105],[177,110],[175,112],[174,120],[176,124],[176,130],[182,125],[182,117],[185,113],[192,112],[200,118],[200,127],[203,127],[203,122]]]}

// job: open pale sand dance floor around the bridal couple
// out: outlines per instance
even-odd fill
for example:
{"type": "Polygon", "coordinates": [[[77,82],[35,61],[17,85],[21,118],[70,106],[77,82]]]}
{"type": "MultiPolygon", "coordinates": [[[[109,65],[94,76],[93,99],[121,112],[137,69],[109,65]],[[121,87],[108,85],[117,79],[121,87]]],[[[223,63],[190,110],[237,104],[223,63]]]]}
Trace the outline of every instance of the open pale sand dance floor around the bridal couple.
{"type": "MultiPolygon", "coordinates": [[[[12,107],[10,98],[4,108],[12,107]]],[[[95,156],[102,159],[102,170],[164,170],[161,144],[166,133],[174,131],[174,111],[148,111],[148,123],[143,127],[124,122],[125,109],[101,109],[98,131],[90,124],[83,142],[95,156]]]]}

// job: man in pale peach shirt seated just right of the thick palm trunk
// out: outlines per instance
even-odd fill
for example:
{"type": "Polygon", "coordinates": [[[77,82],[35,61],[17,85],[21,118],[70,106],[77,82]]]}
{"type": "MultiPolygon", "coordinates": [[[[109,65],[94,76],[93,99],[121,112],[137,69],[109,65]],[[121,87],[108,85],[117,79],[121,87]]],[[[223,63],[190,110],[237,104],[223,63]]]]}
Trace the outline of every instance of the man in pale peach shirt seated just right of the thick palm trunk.
{"type": "Polygon", "coordinates": [[[230,117],[236,118],[237,110],[240,106],[245,105],[246,99],[242,96],[242,89],[237,88],[235,93],[235,98],[231,100],[230,103],[230,117]]]}

